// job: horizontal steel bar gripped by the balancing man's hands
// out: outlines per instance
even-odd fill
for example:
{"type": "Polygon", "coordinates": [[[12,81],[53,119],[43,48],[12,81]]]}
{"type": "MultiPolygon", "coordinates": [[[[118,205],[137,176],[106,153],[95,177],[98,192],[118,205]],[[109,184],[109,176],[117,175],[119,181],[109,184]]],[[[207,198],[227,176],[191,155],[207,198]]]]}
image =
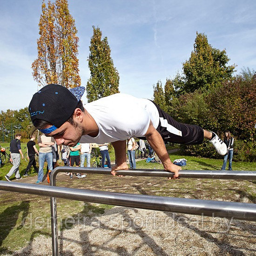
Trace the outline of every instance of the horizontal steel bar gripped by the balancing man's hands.
{"type": "MultiPolygon", "coordinates": [[[[55,176],[59,172],[69,172],[72,167],[57,167],[52,172],[55,176]]],[[[92,167],[74,167],[74,172],[85,172],[91,174],[108,174],[110,175],[110,168],[92,168],[92,167]]],[[[148,169],[128,169],[116,172],[117,175],[130,176],[155,176],[155,177],[172,177],[173,173],[165,170],[148,170],[148,169]]],[[[181,170],[179,171],[181,178],[196,178],[196,179],[234,179],[234,180],[256,180],[256,171],[203,171],[203,170],[181,170]]],[[[53,177],[54,178],[54,177],[53,177]]]]}

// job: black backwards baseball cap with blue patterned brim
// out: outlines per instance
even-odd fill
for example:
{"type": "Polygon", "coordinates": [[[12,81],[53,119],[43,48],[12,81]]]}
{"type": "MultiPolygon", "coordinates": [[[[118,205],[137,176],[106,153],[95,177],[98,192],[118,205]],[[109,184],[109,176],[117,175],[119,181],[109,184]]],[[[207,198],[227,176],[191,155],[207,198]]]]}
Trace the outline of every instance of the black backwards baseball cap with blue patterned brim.
{"type": "Polygon", "coordinates": [[[45,134],[53,132],[73,115],[84,92],[85,88],[82,86],[68,90],[58,84],[48,84],[35,93],[30,101],[28,111],[31,121],[45,120],[53,126],[41,129],[40,132],[45,134]]]}

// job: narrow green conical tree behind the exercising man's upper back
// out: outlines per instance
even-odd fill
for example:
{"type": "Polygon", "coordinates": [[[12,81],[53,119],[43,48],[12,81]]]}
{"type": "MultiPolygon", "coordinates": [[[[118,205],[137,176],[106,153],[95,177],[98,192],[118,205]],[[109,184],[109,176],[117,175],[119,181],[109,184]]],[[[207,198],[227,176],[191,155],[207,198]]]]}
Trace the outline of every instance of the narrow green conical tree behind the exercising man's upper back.
{"type": "Polygon", "coordinates": [[[119,74],[110,56],[108,38],[101,40],[102,32],[99,27],[93,26],[93,32],[88,58],[91,72],[86,87],[88,102],[119,93],[119,74]]]}

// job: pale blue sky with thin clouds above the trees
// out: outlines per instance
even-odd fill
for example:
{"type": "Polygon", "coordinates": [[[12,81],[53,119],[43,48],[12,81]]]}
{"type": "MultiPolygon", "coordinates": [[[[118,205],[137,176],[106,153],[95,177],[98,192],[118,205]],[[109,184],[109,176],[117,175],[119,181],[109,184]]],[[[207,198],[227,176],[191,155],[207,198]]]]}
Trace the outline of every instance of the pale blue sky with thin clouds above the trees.
{"type": "MultiPolygon", "coordinates": [[[[108,37],[119,89],[152,99],[153,84],[174,77],[193,50],[196,31],[226,49],[230,64],[256,69],[255,0],[69,0],[79,41],[81,82],[90,72],[92,26],[108,37]]],[[[37,91],[40,0],[0,0],[0,110],[28,106],[37,91]]],[[[87,102],[85,96],[83,101],[87,102]]]]}

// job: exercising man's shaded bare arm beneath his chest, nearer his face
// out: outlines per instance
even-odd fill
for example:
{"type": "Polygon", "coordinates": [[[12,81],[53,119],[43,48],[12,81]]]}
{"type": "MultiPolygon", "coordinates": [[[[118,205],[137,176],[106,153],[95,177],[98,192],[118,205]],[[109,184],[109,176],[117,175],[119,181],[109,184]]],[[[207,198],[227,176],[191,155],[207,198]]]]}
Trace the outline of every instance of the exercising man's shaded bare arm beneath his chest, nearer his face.
{"type": "Polygon", "coordinates": [[[111,173],[115,176],[115,171],[128,169],[126,163],[126,141],[111,142],[115,149],[116,164],[112,167],[111,173]]]}

